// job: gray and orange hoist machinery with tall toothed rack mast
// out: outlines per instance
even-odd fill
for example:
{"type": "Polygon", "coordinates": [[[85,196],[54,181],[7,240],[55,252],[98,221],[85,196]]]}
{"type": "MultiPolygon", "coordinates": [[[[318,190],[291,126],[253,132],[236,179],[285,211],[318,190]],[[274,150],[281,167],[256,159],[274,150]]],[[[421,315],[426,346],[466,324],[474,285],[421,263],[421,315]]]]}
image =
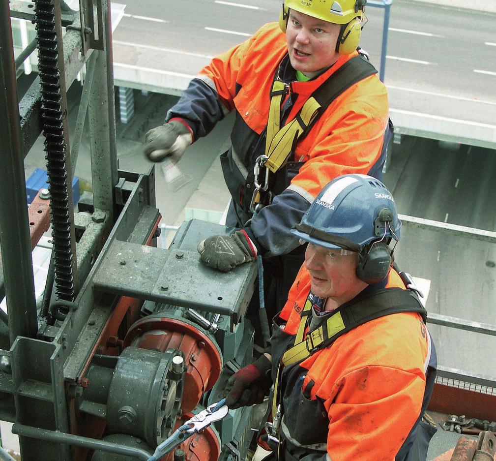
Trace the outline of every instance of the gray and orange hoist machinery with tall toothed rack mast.
{"type": "MultiPolygon", "coordinates": [[[[13,423],[23,461],[148,460],[185,422],[205,422],[228,376],[251,359],[244,315],[256,266],[220,274],[202,265],[197,242],[232,229],[198,220],[168,250],[157,248],[154,169],[118,168],[109,1],[81,0],[79,11],[61,0],[2,2],[0,21],[0,296],[8,310],[0,316],[0,419],[13,423]],[[38,76],[20,102],[11,17],[36,28],[38,76]],[[69,139],[66,90],[81,70],[69,139]],[[75,211],[85,120],[92,194],[75,211]],[[24,158],[40,133],[49,188],[28,210],[24,158]],[[49,227],[37,304],[31,251],[49,227]]],[[[251,409],[223,416],[161,459],[244,459],[251,409]]]]}

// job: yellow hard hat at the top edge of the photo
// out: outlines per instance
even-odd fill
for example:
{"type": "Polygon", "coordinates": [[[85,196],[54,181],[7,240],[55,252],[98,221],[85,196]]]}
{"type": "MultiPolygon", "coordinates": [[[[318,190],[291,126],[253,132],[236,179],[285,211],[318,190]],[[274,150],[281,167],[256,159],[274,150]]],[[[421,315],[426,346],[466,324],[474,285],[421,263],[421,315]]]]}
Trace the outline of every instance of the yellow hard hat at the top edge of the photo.
{"type": "Polygon", "coordinates": [[[361,17],[367,0],[285,0],[284,10],[294,9],[300,13],[333,22],[348,24],[361,17]]]}

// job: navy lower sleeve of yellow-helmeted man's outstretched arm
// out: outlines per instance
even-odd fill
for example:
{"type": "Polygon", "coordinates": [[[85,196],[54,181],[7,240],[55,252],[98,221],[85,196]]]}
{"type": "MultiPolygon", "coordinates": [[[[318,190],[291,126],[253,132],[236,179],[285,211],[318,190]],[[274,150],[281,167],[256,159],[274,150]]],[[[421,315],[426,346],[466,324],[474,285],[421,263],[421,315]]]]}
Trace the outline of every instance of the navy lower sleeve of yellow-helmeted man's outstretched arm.
{"type": "Polygon", "coordinates": [[[179,101],[167,112],[165,121],[174,117],[184,119],[193,131],[193,139],[198,139],[213,130],[224,118],[225,111],[217,92],[201,79],[193,78],[179,101]]]}

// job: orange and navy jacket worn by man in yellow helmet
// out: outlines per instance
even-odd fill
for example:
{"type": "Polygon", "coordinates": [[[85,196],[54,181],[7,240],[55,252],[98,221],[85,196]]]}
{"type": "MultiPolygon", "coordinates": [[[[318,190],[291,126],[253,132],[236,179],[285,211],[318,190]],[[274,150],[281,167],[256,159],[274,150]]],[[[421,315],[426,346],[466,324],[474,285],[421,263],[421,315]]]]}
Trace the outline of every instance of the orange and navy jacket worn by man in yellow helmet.
{"type": "Polygon", "coordinates": [[[232,148],[221,157],[236,212],[227,224],[245,226],[261,254],[281,255],[298,247],[290,229],[332,179],[347,173],[381,174],[377,165],[384,160],[379,157],[388,98],[385,86],[372,75],[338,96],[297,142],[288,164],[271,184],[276,198],[246,224],[252,217],[253,165],[264,153],[269,93],[276,73],[289,91],[281,108],[282,127],[295,118],[317,87],[354,56],[356,52],[341,56],[321,75],[299,82],[289,63],[286,36],[277,23],[266,24],[205,66],[168,112],[166,120],[182,118],[195,139],[210,132],[227,113],[235,112],[232,148]]]}

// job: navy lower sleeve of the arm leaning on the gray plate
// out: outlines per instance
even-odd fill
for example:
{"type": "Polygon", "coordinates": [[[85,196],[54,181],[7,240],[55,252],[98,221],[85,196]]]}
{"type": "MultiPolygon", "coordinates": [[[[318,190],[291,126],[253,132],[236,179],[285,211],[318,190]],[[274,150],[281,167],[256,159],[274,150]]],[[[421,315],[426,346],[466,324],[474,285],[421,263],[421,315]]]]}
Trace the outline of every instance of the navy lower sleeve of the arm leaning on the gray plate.
{"type": "Polygon", "coordinates": [[[296,192],[286,189],[251,218],[245,230],[262,256],[285,255],[300,245],[291,234],[310,202],[296,192]]]}

